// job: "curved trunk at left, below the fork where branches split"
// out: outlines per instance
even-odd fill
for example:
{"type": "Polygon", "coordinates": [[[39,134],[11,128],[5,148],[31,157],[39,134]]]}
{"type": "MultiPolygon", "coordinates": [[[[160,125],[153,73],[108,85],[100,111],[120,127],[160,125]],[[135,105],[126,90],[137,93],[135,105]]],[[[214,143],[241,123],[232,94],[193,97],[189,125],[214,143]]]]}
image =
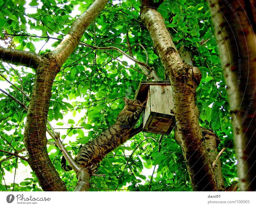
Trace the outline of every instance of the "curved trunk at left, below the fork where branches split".
{"type": "Polygon", "coordinates": [[[28,163],[44,191],[66,191],[64,182],[54,168],[46,149],[46,122],[52,95],[52,84],[60,67],[53,58],[43,58],[36,72],[36,80],[27,113],[24,144],[28,163]],[[50,60],[49,60],[50,59],[50,60]]]}

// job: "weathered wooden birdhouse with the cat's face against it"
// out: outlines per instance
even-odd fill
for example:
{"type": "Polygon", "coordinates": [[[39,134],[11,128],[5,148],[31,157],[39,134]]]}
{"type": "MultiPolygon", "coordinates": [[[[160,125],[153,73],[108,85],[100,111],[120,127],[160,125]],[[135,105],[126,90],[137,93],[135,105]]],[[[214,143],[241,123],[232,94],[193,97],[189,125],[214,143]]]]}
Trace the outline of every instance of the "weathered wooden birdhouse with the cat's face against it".
{"type": "Polygon", "coordinates": [[[143,131],[169,135],[175,125],[172,86],[168,81],[141,81],[135,99],[147,100],[142,112],[143,131]]]}

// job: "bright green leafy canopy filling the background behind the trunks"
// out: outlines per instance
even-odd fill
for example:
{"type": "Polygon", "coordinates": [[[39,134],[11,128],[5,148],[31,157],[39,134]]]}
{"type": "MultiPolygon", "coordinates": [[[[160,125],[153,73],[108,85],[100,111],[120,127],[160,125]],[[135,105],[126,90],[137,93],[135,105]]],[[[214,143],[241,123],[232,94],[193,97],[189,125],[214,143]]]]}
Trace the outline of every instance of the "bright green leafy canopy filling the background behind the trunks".
{"type": "MultiPolygon", "coordinates": [[[[0,8],[3,8],[0,12],[1,45],[39,54],[51,51],[68,33],[74,19],[92,2],[0,1],[0,8]]],[[[141,71],[137,64],[116,50],[93,50],[84,43],[98,47],[114,46],[128,54],[128,34],[133,56],[146,62],[143,45],[147,50],[148,64],[164,80],[164,68],[148,31],[140,23],[139,3],[134,0],[110,3],[84,32],[81,44],[64,63],[52,87],[48,120],[58,128],[56,131],[60,131],[61,139],[73,156],[81,144],[86,144],[115,122],[124,107],[123,97],[133,98],[139,82],[147,78],[136,71],[141,71]]],[[[160,4],[158,11],[163,15],[177,48],[185,46],[193,51],[194,65],[202,72],[196,102],[200,110],[199,122],[202,127],[213,129],[220,137],[219,149],[227,147],[220,159],[225,184],[229,185],[236,177],[233,137],[226,85],[208,5],[204,0],[165,1],[160,4]]],[[[7,63],[0,63],[0,68],[1,88],[28,106],[29,99],[16,87],[30,95],[35,71],[7,63]],[[13,85],[7,84],[4,78],[13,85]]],[[[0,150],[22,150],[25,148],[23,132],[26,111],[3,93],[0,100],[0,150]]],[[[191,190],[182,151],[174,140],[173,132],[162,138],[160,152],[159,139],[160,135],[140,133],[132,141],[110,152],[99,167],[98,174],[106,176],[93,176],[90,190],[191,190]]],[[[61,152],[55,146],[47,147],[60,177],[69,190],[73,190],[77,181],[75,174],[63,172],[60,167],[61,152]]],[[[25,155],[25,152],[20,155],[25,155]]],[[[29,167],[27,162],[0,152],[0,163],[0,190],[41,190],[33,172],[19,183],[17,179],[14,182],[13,178],[9,182],[5,179],[21,165],[29,167]]],[[[17,171],[16,174],[22,172],[17,171]]]]}

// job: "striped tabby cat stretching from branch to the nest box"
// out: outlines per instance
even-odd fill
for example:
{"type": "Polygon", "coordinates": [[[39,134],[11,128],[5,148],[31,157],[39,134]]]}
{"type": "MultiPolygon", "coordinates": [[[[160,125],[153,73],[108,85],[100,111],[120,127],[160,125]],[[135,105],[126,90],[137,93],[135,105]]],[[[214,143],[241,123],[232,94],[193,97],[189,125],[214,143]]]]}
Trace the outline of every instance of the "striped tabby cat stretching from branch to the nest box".
{"type": "MultiPolygon", "coordinates": [[[[125,107],[117,116],[116,122],[98,137],[81,147],[75,157],[75,161],[78,165],[88,167],[100,163],[108,152],[111,152],[116,147],[142,131],[142,124],[138,128],[134,128],[134,126],[144,109],[142,107],[144,103],[127,98],[124,98],[124,102],[125,107]]],[[[65,171],[72,169],[71,166],[66,165],[64,156],[61,160],[61,167],[65,171]]]]}

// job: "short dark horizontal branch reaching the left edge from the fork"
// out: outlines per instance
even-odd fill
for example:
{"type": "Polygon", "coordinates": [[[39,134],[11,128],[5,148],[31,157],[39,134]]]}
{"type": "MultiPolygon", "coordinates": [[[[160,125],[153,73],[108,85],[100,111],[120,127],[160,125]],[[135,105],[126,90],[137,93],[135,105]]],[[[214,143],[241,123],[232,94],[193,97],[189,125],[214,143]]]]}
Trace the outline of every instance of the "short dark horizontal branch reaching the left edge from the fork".
{"type": "Polygon", "coordinates": [[[37,69],[41,56],[32,52],[3,48],[0,46],[0,59],[3,62],[37,69]]]}

